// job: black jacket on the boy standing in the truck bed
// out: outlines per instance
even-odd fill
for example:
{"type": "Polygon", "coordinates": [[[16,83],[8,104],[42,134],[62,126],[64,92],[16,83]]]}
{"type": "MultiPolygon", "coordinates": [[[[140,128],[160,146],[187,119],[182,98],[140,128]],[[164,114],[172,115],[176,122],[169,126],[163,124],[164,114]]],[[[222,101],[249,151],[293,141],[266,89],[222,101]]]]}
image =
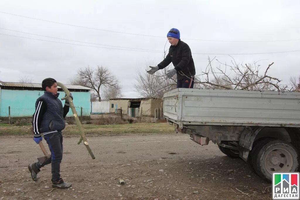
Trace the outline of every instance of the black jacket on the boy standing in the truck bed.
{"type": "Polygon", "coordinates": [[[164,69],[170,63],[173,63],[177,70],[177,79],[184,79],[186,76],[195,76],[195,64],[190,51],[190,47],[180,39],[176,46],[170,46],[169,53],[166,58],[158,64],[159,69],[164,69]],[[186,76],[184,76],[184,75],[186,76]]]}

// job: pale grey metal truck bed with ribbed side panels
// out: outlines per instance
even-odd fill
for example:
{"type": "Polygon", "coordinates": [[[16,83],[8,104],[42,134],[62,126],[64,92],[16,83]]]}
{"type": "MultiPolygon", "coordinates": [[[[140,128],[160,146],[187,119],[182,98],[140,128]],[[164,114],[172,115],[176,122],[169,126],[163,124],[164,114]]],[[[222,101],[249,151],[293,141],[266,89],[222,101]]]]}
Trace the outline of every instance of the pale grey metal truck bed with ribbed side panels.
{"type": "Polygon", "coordinates": [[[164,116],[184,125],[300,127],[300,93],[177,88],[164,116]]]}

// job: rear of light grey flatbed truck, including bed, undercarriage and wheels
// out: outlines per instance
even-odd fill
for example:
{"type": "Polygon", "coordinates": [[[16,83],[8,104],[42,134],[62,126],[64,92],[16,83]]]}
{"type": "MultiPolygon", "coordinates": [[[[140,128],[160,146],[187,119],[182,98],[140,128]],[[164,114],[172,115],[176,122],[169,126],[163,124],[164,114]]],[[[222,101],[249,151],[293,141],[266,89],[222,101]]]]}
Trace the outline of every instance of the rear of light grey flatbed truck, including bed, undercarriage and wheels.
{"type": "Polygon", "coordinates": [[[163,109],[176,132],[212,141],[268,181],[300,169],[299,92],[177,88],[164,94],[163,109]]]}

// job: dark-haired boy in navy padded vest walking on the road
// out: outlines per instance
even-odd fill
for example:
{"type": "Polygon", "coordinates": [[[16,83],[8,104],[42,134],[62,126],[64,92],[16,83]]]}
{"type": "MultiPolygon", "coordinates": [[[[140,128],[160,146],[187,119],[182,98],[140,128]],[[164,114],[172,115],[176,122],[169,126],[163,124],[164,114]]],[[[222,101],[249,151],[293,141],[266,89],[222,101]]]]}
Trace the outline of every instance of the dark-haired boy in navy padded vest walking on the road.
{"type": "MultiPolygon", "coordinates": [[[[37,181],[37,173],[40,168],[51,163],[52,187],[68,188],[72,184],[66,183],[60,178],[60,163],[62,159],[62,134],[65,127],[64,118],[69,112],[70,104],[65,100],[62,107],[61,100],[58,99],[57,83],[55,79],[47,78],[42,82],[44,94],[35,102],[35,113],[33,115],[32,127],[34,132],[33,140],[38,144],[44,135],[51,157],[44,163],[29,164],[28,169],[31,173],[32,180],[37,181]]],[[[73,99],[72,95],[70,97],[73,99]]]]}

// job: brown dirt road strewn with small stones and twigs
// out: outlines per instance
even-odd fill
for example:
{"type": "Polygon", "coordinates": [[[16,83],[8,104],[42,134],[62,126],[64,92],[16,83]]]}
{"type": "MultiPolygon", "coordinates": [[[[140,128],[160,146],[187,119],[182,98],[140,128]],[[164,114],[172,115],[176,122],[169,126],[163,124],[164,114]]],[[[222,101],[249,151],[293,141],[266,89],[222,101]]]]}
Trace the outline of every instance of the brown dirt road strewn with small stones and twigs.
{"type": "Polygon", "coordinates": [[[271,184],[241,159],[230,159],[213,143],[200,146],[187,134],[88,139],[95,160],[77,145],[79,137],[64,137],[61,176],[72,187],[52,189],[50,165],[37,182],[29,174],[28,164],[43,155],[32,138],[0,137],[0,200],[271,199],[271,184]]]}

